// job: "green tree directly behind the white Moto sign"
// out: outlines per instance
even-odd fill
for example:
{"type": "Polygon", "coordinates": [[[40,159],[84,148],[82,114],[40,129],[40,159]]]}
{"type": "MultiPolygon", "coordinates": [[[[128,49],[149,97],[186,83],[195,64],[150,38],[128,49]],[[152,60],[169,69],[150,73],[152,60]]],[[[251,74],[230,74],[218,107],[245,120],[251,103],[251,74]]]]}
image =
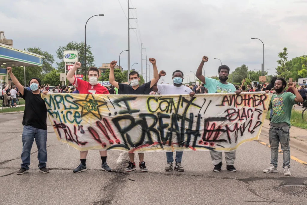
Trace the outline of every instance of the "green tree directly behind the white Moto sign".
{"type": "MultiPolygon", "coordinates": [[[[89,68],[94,65],[94,56],[91,52],[92,47],[90,45],[86,46],[86,67],[89,68]]],[[[69,42],[66,46],[60,46],[56,51],[56,56],[61,60],[59,63],[56,63],[57,69],[61,73],[65,73],[64,67],[65,63],[63,61],[63,53],[64,50],[77,50],[78,51],[78,61],[81,63],[81,67],[77,70],[77,74],[83,74],[85,73],[85,57],[84,57],[84,42],[78,43],[78,42],[69,42]]],[[[67,72],[67,71],[66,71],[67,72]]]]}

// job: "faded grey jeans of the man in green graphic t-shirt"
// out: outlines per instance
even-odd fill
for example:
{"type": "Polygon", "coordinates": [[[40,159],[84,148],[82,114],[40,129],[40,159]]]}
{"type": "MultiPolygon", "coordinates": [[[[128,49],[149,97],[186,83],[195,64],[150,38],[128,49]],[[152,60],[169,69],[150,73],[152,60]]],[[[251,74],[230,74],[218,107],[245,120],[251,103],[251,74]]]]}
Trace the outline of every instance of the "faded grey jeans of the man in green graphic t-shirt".
{"type": "Polygon", "coordinates": [[[269,130],[269,140],[271,147],[271,164],[277,168],[278,146],[280,142],[284,160],[282,168],[285,166],[290,168],[289,127],[275,127],[271,125],[269,130]]]}

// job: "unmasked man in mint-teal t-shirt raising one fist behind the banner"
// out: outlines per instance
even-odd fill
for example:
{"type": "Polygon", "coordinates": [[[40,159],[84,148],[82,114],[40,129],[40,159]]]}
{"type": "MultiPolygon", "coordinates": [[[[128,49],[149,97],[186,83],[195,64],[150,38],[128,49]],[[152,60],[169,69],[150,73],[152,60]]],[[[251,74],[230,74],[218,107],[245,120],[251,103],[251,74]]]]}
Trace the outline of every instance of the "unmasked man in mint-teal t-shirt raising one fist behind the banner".
{"type": "MultiPolygon", "coordinates": [[[[241,93],[240,90],[235,89],[235,86],[231,83],[227,82],[229,75],[229,67],[227,65],[221,65],[219,67],[219,79],[217,81],[215,79],[204,77],[201,73],[203,71],[204,63],[208,61],[208,57],[204,56],[198,69],[196,71],[196,77],[204,83],[204,87],[208,89],[208,93],[237,93],[238,95],[241,93]]],[[[235,151],[232,152],[224,152],[225,160],[226,160],[226,168],[231,172],[236,172],[235,169],[235,151]]],[[[222,160],[223,153],[222,152],[212,152],[210,151],[212,163],[214,165],[214,172],[219,172],[222,169],[222,160]]]]}

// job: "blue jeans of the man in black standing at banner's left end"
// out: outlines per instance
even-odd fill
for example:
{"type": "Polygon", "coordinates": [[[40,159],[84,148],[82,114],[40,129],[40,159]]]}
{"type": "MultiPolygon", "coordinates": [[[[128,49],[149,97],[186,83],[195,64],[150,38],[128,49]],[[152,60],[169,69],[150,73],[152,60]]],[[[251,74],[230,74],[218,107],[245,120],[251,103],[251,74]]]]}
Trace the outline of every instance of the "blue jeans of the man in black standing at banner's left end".
{"type": "Polygon", "coordinates": [[[22,132],[22,152],[21,152],[21,168],[29,169],[30,154],[33,141],[38,149],[37,159],[38,167],[46,167],[47,162],[47,130],[33,128],[31,126],[23,126],[22,132]]]}

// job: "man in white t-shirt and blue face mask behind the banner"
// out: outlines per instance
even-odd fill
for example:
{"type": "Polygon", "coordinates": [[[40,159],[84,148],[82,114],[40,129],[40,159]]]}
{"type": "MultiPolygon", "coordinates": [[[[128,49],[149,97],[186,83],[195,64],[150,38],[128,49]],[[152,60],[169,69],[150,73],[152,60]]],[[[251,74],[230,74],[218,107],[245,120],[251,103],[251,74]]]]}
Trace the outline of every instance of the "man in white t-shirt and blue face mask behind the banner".
{"type": "MultiPolygon", "coordinates": [[[[166,73],[164,70],[161,70],[159,73],[159,79],[161,76],[165,76],[166,73]]],[[[169,84],[157,84],[153,86],[153,91],[161,93],[162,95],[173,95],[173,94],[190,94],[190,97],[193,97],[195,93],[188,87],[182,85],[183,81],[183,73],[180,70],[175,70],[173,73],[173,85],[169,84]]],[[[185,169],[181,166],[181,159],[182,159],[183,152],[176,152],[176,159],[175,159],[175,167],[174,170],[177,171],[185,171],[185,169]]],[[[165,167],[165,171],[172,171],[173,170],[173,152],[166,152],[166,161],[167,165],[165,167]]]]}

